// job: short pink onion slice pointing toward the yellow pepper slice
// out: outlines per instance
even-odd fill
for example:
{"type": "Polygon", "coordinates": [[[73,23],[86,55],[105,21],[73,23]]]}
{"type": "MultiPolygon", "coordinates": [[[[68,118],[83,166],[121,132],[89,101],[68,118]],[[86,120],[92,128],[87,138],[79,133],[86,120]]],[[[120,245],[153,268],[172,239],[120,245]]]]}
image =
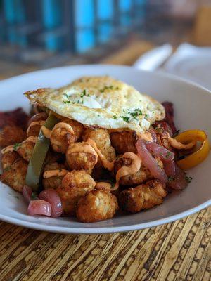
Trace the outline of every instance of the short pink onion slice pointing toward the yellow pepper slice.
{"type": "Polygon", "coordinates": [[[146,148],[149,152],[153,153],[153,155],[160,157],[164,161],[172,161],[174,159],[174,153],[170,150],[167,150],[161,145],[157,143],[146,142],[146,148]]]}

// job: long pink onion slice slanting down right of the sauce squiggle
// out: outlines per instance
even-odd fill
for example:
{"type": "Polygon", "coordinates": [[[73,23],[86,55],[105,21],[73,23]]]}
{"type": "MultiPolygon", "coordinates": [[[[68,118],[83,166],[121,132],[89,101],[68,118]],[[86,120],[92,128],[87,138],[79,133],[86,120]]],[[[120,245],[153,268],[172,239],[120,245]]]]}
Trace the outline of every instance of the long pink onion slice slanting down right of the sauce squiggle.
{"type": "Polygon", "coordinates": [[[139,140],[136,142],[136,149],[138,151],[139,157],[141,158],[141,161],[143,162],[143,165],[151,171],[151,174],[155,178],[166,183],[167,175],[165,174],[165,171],[163,171],[160,166],[158,166],[155,158],[147,150],[145,142],[141,138],[139,138],[139,140]]]}

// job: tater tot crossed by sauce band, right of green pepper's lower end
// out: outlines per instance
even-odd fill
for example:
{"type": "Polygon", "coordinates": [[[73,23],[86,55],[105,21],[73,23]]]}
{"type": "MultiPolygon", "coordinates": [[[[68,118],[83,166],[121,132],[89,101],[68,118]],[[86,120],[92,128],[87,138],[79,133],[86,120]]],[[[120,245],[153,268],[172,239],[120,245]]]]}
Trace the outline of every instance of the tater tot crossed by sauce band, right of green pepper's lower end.
{"type": "MultiPolygon", "coordinates": [[[[51,164],[46,164],[46,166],[44,166],[44,171],[52,171],[52,170],[60,170],[60,169],[65,169],[65,165],[55,162],[51,164]]],[[[42,185],[44,189],[49,189],[49,188],[56,189],[58,188],[59,185],[61,185],[62,179],[63,176],[51,176],[51,178],[43,178],[42,185]]]]}

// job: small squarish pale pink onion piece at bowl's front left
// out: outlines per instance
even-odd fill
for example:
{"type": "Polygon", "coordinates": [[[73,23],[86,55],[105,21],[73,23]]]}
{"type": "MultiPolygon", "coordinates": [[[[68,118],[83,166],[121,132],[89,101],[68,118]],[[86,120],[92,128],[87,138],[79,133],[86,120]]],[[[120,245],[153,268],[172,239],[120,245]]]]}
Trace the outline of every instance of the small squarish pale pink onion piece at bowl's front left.
{"type": "Polygon", "coordinates": [[[28,214],[51,216],[51,204],[44,200],[32,200],[28,206],[28,214]]]}

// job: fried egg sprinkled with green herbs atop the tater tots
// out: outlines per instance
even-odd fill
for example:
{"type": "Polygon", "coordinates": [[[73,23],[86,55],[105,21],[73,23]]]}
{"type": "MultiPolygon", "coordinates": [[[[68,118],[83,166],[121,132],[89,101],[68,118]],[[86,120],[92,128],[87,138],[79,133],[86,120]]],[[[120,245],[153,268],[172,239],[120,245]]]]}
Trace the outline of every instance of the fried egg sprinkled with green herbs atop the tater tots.
{"type": "Polygon", "coordinates": [[[48,107],[85,126],[145,132],[165,117],[164,107],[112,77],[82,77],[58,89],[28,91],[32,103],[48,107]]]}

